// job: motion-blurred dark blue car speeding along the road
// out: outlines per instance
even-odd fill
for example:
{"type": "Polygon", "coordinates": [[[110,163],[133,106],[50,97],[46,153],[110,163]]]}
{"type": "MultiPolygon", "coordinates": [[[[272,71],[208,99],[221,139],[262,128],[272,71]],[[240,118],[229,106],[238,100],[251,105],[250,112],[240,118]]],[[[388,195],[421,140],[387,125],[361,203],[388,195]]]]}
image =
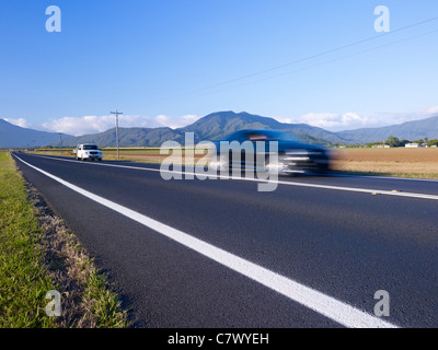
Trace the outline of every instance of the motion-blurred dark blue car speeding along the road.
{"type": "MultiPolygon", "coordinates": [[[[226,154],[218,154],[219,164],[216,164],[218,168],[229,167],[231,170],[240,167],[245,170],[250,167],[261,170],[262,167],[262,171],[278,175],[324,174],[330,171],[330,155],[323,147],[309,144],[304,140],[286,132],[265,129],[240,130],[230,135],[223,141],[228,141],[230,148],[226,154]],[[253,158],[247,156],[250,159],[245,159],[246,150],[242,148],[242,143],[245,141],[253,143],[253,158]],[[262,152],[256,148],[257,141],[264,141],[262,152]],[[277,162],[274,161],[276,158],[269,155],[269,141],[278,142],[277,162]],[[235,160],[235,152],[241,152],[240,159],[235,160]],[[263,154],[257,156],[257,152],[263,154]],[[260,161],[261,159],[263,160],[262,162],[260,161]]],[[[220,152],[220,142],[215,141],[218,153],[220,152]]]]}

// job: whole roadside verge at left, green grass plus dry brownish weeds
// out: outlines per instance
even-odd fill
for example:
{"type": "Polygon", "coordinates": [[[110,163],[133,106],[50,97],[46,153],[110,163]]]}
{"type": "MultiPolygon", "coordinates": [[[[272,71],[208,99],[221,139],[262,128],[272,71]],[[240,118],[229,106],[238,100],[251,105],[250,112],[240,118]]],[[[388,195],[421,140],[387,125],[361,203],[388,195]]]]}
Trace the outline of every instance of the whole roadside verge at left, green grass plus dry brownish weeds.
{"type": "Polygon", "coordinates": [[[122,328],[127,312],[62,219],[0,153],[0,328],[122,328]],[[61,295],[47,316],[46,293],[61,295]]]}

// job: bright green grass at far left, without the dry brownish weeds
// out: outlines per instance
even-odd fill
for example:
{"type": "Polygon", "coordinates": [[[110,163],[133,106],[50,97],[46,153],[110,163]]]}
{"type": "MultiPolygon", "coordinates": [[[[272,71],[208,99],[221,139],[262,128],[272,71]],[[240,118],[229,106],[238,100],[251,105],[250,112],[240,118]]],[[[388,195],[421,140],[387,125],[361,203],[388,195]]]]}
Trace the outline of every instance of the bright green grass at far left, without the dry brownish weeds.
{"type": "Polygon", "coordinates": [[[45,313],[55,285],[35,249],[42,232],[8,153],[0,153],[0,327],[55,327],[45,313]]]}

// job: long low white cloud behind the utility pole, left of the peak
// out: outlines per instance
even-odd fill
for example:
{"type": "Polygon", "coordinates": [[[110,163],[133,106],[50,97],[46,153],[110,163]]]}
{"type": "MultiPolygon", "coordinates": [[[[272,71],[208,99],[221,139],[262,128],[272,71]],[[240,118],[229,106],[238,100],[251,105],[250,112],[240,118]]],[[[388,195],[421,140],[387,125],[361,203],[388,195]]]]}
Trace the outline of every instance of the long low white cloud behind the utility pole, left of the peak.
{"type": "MultiPolygon", "coordinates": [[[[139,115],[119,115],[118,126],[120,128],[157,128],[170,127],[180,128],[194,120],[198,119],[197,116],[186,115],[180,117],[172,117],[159,115],[157,117],[139,116],[139,115]]],[[[115,128],[116,118],[114,115],[108,116],[83,116],[83,117],[62,117],[53,119],[43,124],[43,128],[48,131],[70,133],[81,136],[87,133],[96,133],[115,128]]]]}

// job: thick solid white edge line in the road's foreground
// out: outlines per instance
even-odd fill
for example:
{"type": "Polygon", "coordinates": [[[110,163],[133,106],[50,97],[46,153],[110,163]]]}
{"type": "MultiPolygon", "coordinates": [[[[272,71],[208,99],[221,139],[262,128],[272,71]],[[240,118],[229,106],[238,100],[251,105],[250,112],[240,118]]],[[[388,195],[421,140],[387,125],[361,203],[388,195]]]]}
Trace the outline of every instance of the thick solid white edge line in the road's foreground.
{"type": "Polygon", "coordinates": [[[323,294],[314,289],[300,284],[285,276],[278,275],[262,266],[228,253],[209,243],[191,236],[180,230],[171,228],[164,223],[155,221],[149,217],[140,214],[129,208],[117,205],[101,196],[94,195],[76,185],[72,185],[50,173],[47,173],[15,155],[21,162],[35,171],[50,177],[51,179],[62,184],[64,186],[74,190],[87,198],[105,206],[138,223],[237,271],[285,296],[298,302],[314,312],[324,315],[346,327],[351,328],[397,328],[394,324],[384,322],[383,319],[372,316],[364,311],[353,307],[349,304],[341,302],[334,298],[323,294]]]}

